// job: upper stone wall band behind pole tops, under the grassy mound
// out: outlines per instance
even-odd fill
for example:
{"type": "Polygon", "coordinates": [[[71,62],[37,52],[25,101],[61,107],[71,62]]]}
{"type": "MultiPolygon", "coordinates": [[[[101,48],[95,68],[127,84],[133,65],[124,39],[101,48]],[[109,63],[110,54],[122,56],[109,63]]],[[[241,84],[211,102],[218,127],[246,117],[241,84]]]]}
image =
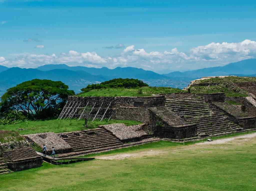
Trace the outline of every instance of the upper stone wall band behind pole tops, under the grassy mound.
{"type": "MultiPolygon", "coordinates": [[[[110,105],[111,108],[119,108],[119,107],[154,107],[154,106],[163,106],[165,104],[165,96],[150,96],[150,97],[77,97],[77,96],[69,96],[69,102],[75,101],[76,103],[81,105],[80,107],[93,106],[96,102],[95,107],[100,107],[103,102],[103,106],[108,107],[110,105]]],[[[76,104],[74,103],[74,104],[76,104]]],[[[71,103],[73,104],[73,103],[71,103]]],[[[77,106],[78,106],[77,104],[77,106]]],[[[71,107],[70,105],[69,107],[71,107]]],[[[73,105],[74,106],[74,105],[73,105]]]]}

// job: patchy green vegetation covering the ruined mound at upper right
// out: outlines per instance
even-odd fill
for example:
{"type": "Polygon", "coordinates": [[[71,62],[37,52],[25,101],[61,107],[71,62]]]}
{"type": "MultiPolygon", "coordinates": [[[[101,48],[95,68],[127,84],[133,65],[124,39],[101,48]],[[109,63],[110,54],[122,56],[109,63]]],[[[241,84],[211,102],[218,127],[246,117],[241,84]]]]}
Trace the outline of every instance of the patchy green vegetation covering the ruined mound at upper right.
{"type": "Polygon", "coordinates": [[[234,82],[248,82],[248,81],[256,81],[255,77],[237,77],[237,76],[229,76],[224,78],[207,78],[207,79],[199,79],[192,82],[189,90],[191,93],[220,93],[223,92],[227,97],[238,96],[238,97],[246,97],[248,96],[247,92],[237,86],[235,86],[234,82]],[[210,83],[210,86],[194,86],[197,84],[210,83]]]}

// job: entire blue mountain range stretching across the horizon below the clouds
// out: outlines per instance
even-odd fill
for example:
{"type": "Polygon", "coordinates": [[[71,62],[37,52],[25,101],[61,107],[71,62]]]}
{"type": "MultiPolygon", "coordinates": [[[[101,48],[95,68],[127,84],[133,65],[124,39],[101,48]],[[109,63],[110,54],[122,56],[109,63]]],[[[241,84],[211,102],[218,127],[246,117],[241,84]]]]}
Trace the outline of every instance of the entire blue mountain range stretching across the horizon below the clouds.
{"type": "Polygon", "coordinates": [[[7,88],[32,79],[49,79],[62,81],[76,93],[88,84],[100,83],[113,78],[135,78],[143,80],[151,86],[170,86],[183,88],[191,80],[204,76],[241,75],[256,76],[256,59],[247,59],[230,63],[222,67],[203,68],[186,72],[171,72],[158,74],[153,71],[133,67],[117,67],[115,69],[88,68],[82,66],[70,67],[65,64],[48,64],[35,69],[7,68],[0,66],[0,96],[7,88]]]}

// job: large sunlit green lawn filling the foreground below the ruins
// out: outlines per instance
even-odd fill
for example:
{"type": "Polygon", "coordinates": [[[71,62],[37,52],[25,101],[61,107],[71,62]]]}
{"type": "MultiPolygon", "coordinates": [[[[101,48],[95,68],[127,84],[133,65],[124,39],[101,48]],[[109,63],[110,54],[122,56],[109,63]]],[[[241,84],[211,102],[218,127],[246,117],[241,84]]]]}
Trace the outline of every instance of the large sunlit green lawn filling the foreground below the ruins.
{"type": "MultiPolygon", "coordinates": [[[[148,144],[157,155],[95,159],[2,175],[0,190],[255,190],[256,138],[217,145],[148,144]]],[[[144,153],[145,153],[144,152],[144,153]]]]}

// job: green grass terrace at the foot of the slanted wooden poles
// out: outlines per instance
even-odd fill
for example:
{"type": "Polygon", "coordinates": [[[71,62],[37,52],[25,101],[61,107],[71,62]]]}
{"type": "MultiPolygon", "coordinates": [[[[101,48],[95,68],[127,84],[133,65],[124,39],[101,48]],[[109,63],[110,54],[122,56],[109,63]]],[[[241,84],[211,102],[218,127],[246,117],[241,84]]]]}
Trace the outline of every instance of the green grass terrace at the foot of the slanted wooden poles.
{"type": "MultiPolygon", "coordinates": [[[[103,120],[90,122],[90,128],[97,128],[99,125],[112,124],[112,123],[124,123],[126,125],[141,124],[138,121],[132,120],[103,120]]],[[[21,135],[44,133],[44,132],[70,132],[84,130],[84,120],[45,120],[45,121],[25,121],[12,125],[0,125],[0,130],[17,131],[21,135]]]]}

